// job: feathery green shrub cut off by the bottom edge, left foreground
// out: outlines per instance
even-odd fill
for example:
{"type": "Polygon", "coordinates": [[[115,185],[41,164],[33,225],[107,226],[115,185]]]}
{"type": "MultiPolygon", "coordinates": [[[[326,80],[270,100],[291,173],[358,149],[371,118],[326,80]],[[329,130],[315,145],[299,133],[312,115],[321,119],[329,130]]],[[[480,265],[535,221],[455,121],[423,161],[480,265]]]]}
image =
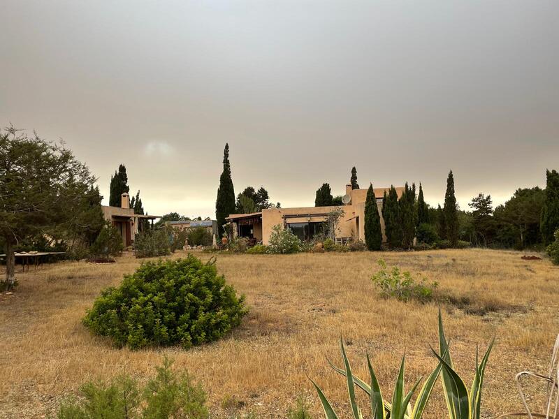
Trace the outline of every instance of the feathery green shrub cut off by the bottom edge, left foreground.
{"type": "Polygon", "coordinates": [[[166,358],[144,388],[127,375],[107,383],[85,383],[80,388],[80,399],[61,403],[57,419],[209,418],[201,385],[194,383],[187,372],[173,372],[171,364],[166,358]]]}

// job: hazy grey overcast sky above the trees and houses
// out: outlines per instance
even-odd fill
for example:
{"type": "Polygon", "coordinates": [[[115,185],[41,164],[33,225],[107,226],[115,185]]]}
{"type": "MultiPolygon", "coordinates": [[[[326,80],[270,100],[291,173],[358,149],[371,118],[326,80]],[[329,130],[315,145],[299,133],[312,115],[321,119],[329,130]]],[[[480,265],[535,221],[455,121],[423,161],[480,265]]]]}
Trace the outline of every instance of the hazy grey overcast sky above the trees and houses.
{"type": "Polygon", "coordinates": [[[558,1],[0,0],[0,126],[124,163],[150,214],[235,193],[312,206],[350,170],[461,208],[559,169],[558,1]]]}

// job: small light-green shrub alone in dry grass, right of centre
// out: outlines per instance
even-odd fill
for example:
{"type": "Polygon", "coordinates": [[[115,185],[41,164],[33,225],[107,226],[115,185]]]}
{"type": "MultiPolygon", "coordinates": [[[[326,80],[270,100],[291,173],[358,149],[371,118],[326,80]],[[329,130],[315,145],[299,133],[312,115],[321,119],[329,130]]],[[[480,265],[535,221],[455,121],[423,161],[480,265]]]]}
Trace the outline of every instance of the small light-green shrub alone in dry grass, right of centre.
{"type": "Polygon", "coordinates": [[[371,279],[384,297],[395,297],[400,301],[414,299],[420,302],[432,299],[433,291],[438,286],[437,282],[429,284],[425,279],[416,281],[409,272],[400,272],[398,266],[393,266],[389,271],[384,260],[379,259],[378,263],[380,270],[371,279]]]}

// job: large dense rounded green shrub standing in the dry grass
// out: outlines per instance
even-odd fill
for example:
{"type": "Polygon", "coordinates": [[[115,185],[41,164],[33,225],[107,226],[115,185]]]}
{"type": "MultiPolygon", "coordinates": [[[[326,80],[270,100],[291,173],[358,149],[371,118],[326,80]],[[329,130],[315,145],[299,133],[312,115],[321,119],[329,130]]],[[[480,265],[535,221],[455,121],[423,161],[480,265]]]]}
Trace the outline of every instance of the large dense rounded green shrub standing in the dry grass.
{"type": "Polygon", "coordinates": [[[226,285],[214,263],[193,255],[143,263],[117,288],[101,292],[83,323],[117,346],[181,344],[219,339],[247,314],[245,296],[226,285]]]}

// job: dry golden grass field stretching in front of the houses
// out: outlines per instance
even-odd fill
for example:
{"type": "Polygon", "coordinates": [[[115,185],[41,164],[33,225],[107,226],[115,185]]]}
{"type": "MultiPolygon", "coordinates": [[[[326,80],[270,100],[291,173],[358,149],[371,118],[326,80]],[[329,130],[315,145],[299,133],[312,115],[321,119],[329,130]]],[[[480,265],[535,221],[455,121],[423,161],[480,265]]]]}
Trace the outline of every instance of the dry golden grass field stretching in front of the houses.
{"type": "MultiPolygon", "coordinates": [[[[307,376],[321,385],[338,411],[348,413],[344,380],[326,362],[328,357],[341,363],[340,333],[354,372],[362,378],[368,376],[365,351],[370,353],[386,395],[404,352],[408,385],[436,365],[429,344],[437,344],[438,303],[379,297],[370,277],[381,257],[438,281],[440,291],[470,297],[470,306],[442,305],[456,368],[471,383],[476,345],[484,351],[495,337],[483,416],[520,411],[514,375],[523,369],[544,372],[559,332],[559,268],[549,260],[521,256],[479,249],[219,255],[219,272],[247,295],[251,311],[225,339],[189,351],[117,349],[82,326],[99,291],[119,284],[139,265],[131,256],[108,265],[64,262],[31,269],[19,273],[13,295],[0,295],[0,417],[43,418],[84,381],[123,371],[143,379],[164,355],[203,383],[212,417],[252,411],[259,418],[284,418],[298,395],[305,395],[314,418],[321,418],[307,376]]],[[[537,403],[540,388],[528,388],[537,403]]],[[[435,392],[428,417],[446,417],[440,383],[435,392]]],[[[363,397],[360,402],[366,411],[363,397]]]]}

